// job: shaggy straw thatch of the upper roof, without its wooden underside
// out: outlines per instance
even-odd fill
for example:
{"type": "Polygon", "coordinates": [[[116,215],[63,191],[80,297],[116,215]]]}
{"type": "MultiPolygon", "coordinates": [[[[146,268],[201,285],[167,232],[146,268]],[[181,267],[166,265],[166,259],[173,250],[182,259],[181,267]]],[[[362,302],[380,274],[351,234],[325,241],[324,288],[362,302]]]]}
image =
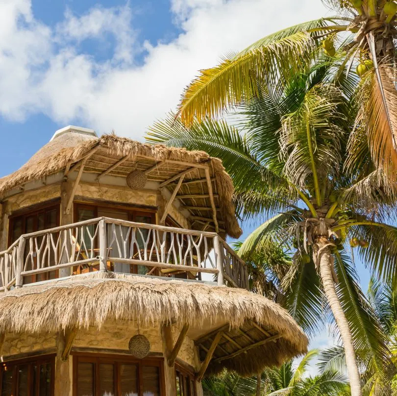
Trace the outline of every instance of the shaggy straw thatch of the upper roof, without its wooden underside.
{"type": "Polygon", "coordinates": [[[66,167],[68,162],[78,161],[86,152],[96,145],[101,145],[118,156],[131,156],[135,160],[139,156],[149,156],[155,161],[175,160],[190,163],[210,163],[214,169],[217,190],[220,196],[221,214],[225,221],[228,235],[238,238],[242,231],[236,220],[235,208],[232,203],[234,187],[230,176],[225,172],[222,161],[212,158],[204,151],[189,151],[185,148],[170,148],[163,145],[149,145],[114,134],[96,138],[82,134],[65,134],[41,148],[17,172],[0,179],[0,197],[7,191],[32,180],[39,180],[50,174],[57,173],[66,167]]]}

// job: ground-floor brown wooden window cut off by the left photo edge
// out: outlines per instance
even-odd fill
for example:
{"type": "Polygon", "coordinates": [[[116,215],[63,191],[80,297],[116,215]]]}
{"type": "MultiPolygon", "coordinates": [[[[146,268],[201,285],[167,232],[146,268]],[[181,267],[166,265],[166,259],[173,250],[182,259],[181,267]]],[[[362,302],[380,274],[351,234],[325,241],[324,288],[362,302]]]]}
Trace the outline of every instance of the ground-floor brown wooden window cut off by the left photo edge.
{"type": "Polygon", "coordinates": [[[54,356],[1,363],[1,396],[53,396],[54,356]]]}

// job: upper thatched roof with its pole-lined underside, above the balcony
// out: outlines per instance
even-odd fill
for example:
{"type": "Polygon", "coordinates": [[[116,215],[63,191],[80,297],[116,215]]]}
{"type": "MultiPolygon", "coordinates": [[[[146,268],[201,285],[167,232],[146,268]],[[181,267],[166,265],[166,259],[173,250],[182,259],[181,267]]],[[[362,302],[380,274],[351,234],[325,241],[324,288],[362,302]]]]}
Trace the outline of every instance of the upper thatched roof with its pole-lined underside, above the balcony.
{"type": "MultiPolygon", "coordinates": [[[[212,177],[212,188],[215,204],[218,208],[219,225],[223,228],[223,235],[238,238],[242,231],[235,216],[232,203],[234,187],[230,176],[225,172],[222,161],[212,158],[203,151],[188,151],[184,148],[169,148],[163,145],[149,145],[136,142],[114,134],[103,135],[100,138],[92,135],[68,132],[46,144],[18,171],[0,179],[0,198],[8,191],[23,186],[25,183],[40,180],[46,176],[63,171],[67,166],[73,166],[94,148],[98,149],[90,155],[84,167],[84,172],[98,175],[115,165],[124,157],[128,157],[108,175],[125,177],[132,170],[148,170],[148,180],[164,182],[174,175],[188,170],[194,164],[207,164],[212,177]],[[156,166],[157,164],[157,166],[156,166]]],[[[208,227],[204,218],[211,219],[211,202],[205,182],[203,169],[197,169],[185,176],[189,179],[202,180],[196,184],[183,184],[178,195],[194,195],[194,198],[184,198],[183,205],[189,208],[195,229],[208,227]],[[202,195],[203,197],[198,197],[202,195]],[[201,209],[192,209],[197,207],[201,209]]],[[[166,186],[173,191],[175,182],[166,186]]],[[[182,199],[182,198],[180,198],[182,199]]],[[[210,231],[210,229],[207,228],[210,231]]],[[[221,232],[222,235],[222,232],[221,232]]]]}

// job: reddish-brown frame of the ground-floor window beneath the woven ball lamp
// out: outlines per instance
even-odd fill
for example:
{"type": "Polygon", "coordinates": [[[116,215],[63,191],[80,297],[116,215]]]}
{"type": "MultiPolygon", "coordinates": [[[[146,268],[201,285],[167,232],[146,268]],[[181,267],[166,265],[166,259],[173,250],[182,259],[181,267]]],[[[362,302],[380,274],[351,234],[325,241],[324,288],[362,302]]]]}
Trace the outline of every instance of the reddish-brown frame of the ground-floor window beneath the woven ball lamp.
{"type": "Polygon", "coordinates": [[[160,396],[166,395],[165,386],[165,375],[164,375],[164,358],[163,357],[149,357],[144,359],[135,359],[132,356],[121,356],[112,355],[107,353],[84,353],[84,352],[72,352],[73,354],[73,396],[77,396],[77,374],[78,374],[78,363],[93,363],[94,366],[94,396],[98,395],[98,364],[113,364],[114,373],[114,385],[115,393],[114,396],[120,395],[120,382],[119,382],[119,364],[136,364],[138,369],[138,396],[143,396],[143,379],[142,379],[142,367],[158,367],[159,369],[159,387],[160,396]]]}

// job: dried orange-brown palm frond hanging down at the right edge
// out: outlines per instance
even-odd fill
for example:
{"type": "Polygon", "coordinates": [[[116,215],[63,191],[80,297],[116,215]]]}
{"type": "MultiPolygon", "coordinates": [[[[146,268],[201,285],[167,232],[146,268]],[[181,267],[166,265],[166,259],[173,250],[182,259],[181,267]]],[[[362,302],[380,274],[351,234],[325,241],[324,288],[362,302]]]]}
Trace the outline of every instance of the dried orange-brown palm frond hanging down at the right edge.
{"type": "Polygon", "coordinates": [[[397,180],[397,90],[393,70],[379,66],[367,77],[358,117],[365,123],[374,165],[397,180]]]}

